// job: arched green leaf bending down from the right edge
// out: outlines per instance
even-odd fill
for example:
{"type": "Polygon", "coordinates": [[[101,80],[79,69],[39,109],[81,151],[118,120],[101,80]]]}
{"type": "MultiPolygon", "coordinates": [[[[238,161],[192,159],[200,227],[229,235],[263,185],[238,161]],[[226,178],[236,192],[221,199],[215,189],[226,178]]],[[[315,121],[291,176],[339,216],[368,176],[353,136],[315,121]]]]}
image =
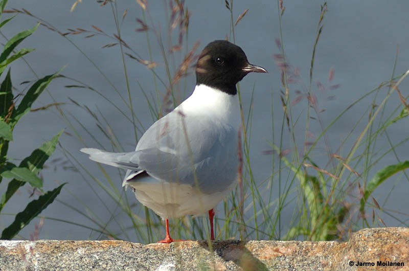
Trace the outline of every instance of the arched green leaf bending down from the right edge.
{"type": "Polygon", "coordinates": [[[385,180],[387,180],[392,175],[398,173],[399,171],[408,169],[408,168],[409,168],[409,161],[405,161],[402,163],[384,167],[383,169],[379,170],[367,184],[367,187],[365,188],[365,191],[363,192],[363,197],[360,200],[359,210],[363,212],[365,208],[365,203],[367,202],[368,197],[372,194],[372,192],[374,192],[374,190],[380,184],[382,184],[385,180]]]}

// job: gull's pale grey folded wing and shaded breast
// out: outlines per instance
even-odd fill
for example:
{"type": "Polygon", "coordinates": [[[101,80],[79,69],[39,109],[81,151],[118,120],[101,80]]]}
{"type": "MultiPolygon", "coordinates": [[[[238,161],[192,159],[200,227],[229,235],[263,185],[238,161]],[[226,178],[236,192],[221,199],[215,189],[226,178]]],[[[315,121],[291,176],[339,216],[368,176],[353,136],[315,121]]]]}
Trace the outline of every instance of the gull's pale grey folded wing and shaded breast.
{"type": "Polygon", "coordinates": [[[236,180],[237,128],[171,112],[140,139],[134,161],[156,179],[222,191],[236,180]]]}

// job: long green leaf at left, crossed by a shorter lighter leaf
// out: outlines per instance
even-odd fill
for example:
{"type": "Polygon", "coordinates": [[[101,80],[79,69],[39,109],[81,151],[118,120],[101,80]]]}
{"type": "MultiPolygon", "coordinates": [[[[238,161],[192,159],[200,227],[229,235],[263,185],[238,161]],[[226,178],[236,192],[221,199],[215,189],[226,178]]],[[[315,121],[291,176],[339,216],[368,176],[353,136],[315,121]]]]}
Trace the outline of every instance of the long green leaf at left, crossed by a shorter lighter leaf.
{"type": "MultiPolygon", "coordinates": [[[[54,138],[46,143],[42,144],[42,146],[38,149],[35,149],[30,156],[26,157],[23,161],[21,161],[19,167],[28,168],[34,174],[37,174],[50,155],[54,152],[55,146],[58,143],[58,139],[61,135],[62,131],[60,131],[54,138]]],[[[12,179],[7,186],[7,191],[5,194],[2,195],[2,201],[0,202],[0,211],[6,205],[7,201],[14,195],[17,189],[21,186],[24,186],[25,182],[21,182],[17,179],[12,179]]]]}

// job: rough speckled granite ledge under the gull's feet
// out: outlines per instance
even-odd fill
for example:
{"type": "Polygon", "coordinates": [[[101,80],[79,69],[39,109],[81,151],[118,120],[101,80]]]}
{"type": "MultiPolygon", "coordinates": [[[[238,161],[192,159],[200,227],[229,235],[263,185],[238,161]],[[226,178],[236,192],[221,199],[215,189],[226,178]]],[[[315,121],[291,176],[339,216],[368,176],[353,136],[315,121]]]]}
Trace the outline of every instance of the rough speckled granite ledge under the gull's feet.
{"type": "Polygon", "coordinates": [[[409,270],[409,228],[360,230],[348,242],[0,240],[0,270],[409,270]]]}

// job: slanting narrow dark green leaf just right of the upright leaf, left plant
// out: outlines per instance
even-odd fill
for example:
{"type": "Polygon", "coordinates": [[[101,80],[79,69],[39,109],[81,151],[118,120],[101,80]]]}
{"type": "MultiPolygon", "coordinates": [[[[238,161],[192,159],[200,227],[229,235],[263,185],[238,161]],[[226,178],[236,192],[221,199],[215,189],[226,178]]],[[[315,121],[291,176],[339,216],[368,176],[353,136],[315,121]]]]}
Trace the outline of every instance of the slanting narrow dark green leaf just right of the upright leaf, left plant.
{"type": "Polygon", "coordinates": [[[14,111],[14,115],[12,116],[14,125],[15,123],[24,116],[28,111],[30,111],[30,107],[33,102],[40,96],[42,91],[50,84],[50,82],[60,73],[60,71],[56,72],[52,75],[47,75],[39,80],[37,80],[27,91],[24,98],[22,98],[20,104],[18,105],[17,109],[14,111]]]}

